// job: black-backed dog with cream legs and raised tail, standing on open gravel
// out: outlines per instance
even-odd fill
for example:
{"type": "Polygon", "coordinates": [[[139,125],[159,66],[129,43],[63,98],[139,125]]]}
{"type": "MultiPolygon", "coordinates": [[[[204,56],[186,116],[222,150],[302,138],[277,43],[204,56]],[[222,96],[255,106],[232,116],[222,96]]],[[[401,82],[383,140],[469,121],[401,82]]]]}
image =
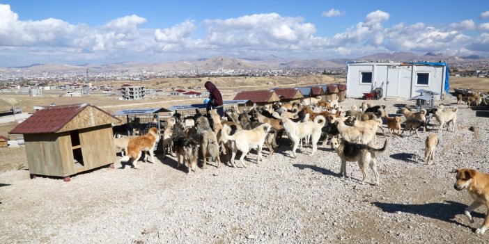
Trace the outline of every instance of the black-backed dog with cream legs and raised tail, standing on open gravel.
{"type": "Polygon", "coordinates": [[[380,149],[375,149],[364,144],[349,143],[344,139],[333,138],[331,140],[332,147],[336,150],[336,154],[341,158],[341,170],[340,174],[343,178],[346,175],[346,162],[358,162],[362,174],[364,174],[364,179],[362,184],[365,184],[367,175],[366,167],[370,167],[375,174],[375,186],[379,184],[379,173],[377,172],[377,160],[375,156],[382,154],[387,151],[387,140],[385,140],[384,147],[380,149]]]}

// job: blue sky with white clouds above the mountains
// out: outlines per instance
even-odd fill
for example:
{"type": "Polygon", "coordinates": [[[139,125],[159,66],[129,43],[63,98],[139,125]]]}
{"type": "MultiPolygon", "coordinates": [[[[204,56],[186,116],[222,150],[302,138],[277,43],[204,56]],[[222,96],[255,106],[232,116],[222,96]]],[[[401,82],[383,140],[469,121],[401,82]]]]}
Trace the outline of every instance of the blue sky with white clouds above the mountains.
{"type": "Polygon", "coordinates": [[[489,1],[2,1],[0,66],[489,56],[489,1]]]}

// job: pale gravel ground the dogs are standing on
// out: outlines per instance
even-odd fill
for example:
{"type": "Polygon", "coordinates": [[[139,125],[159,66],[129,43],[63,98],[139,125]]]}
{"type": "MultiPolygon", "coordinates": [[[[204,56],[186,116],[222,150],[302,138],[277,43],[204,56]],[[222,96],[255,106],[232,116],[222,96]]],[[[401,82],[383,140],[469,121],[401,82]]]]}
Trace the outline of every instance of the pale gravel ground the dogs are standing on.
{"type": "MultiPolygon", "coordinates": [[[[403,102],[373,103],[387,105],[392,114],[393,105],[403,102]]],[[[341,179],[339,157],[329,148],[309,156],[311,147],[305,147],[291,158],[287,139],[258,165],[251,154],[248,168],[214,164],[189,176],[162,155],[155,164],[141,163],[140,170],[102,168],[69,183],[29,179],[27,170],[3,172],[0,243],[486,242],[487,236],[473,232],[486,209],[477,209],[470,224],[463,215],[469,195],[453,189],[455,175],[449,172],[489,172],[487,116],[462,106],[455,132],[438,132],[436,125],[420,131],[421,139],[387,136],[390,148],[378,156],[377,187],[359,184],[356,163],[348,163],[350,177],[341,179]],[[440,146],[435,163],[425,165],[428,133],[437,134],[440,146]]],[[[372,183],[371,171],[368,177],[372,183]]]]}

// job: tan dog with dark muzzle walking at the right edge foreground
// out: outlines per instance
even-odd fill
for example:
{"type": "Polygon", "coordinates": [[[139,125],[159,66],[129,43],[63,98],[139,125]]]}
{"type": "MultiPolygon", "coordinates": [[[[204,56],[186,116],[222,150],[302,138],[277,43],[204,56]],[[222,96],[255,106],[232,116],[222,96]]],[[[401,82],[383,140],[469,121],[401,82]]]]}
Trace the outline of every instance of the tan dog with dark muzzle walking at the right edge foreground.
{"type": "MultiPolygon", "coordinates": [[[[479,206],[486,205],[489,211],[489,174],[479,172],[473,169],[459,168],[453,170],[452,173],[456,173],[456,182],[453,185],[455,190],[467,189],[469,195],[474,202],[467,206],[464,213],[469,218],[470,223],[474,222],[474,218],[470,215],[470,212],[477,209],[479,206]]],[[[476,234],[484,234],[489,227],[489,215],[486,214],[484,223],[481,227],[476,229],[476,234]]]]}

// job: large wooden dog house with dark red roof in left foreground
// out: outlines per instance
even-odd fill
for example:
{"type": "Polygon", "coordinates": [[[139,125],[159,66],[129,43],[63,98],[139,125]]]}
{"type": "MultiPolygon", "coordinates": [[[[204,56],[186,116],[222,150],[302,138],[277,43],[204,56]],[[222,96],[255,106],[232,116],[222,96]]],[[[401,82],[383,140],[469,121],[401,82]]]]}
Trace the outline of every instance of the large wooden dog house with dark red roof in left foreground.
{"type": "Polygon", "coordinates": [[[64,177],[116,161],[111,123],[116,117],[91,104],[47,106],[9,133],[23,134],[31,177],[64,177]]]}

